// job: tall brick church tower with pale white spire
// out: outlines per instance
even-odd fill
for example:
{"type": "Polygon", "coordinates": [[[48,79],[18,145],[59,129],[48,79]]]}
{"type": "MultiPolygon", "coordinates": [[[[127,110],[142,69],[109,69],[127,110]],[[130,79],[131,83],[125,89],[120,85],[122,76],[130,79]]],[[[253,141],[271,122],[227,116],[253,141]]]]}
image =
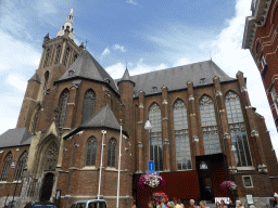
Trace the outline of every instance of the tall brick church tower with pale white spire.
{"type": "Polygon", "coordinates": [[[72,9],[56,37],[50,39],[49,34],[45,37],[39,67],[28,80],[16,128],[26,127],[35,132],[43,94],[48,93],[53,82],[64,75],[84,50],[83,43],[78,47],[74,42],[73,18],[72,9]]]}

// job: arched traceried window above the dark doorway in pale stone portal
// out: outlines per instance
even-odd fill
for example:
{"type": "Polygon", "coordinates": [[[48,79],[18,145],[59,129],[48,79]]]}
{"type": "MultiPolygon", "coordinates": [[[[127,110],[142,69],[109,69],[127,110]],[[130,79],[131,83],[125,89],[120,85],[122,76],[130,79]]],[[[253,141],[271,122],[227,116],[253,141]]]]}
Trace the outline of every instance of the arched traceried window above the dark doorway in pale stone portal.
{"type": "Polygon", "coordinates": [[[56,167],[56,159],[58,159],[58,146],[56,143],[52,143],[49,145],[48,150],[46,151],[42,164],[42,170],[54,170],[56,167]]]}

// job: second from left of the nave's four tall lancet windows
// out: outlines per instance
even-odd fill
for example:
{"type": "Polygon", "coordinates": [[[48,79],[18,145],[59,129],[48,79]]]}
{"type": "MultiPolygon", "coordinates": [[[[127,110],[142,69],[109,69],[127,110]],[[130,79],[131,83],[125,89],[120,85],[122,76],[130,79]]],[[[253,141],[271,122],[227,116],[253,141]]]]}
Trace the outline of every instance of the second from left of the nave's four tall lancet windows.
{"type": "Polygon", "coordinates": [[[181,100],[177,100],[174,104],[174,127],[176,139],[177,169],[191,169],[187,107],[181,100]]]}

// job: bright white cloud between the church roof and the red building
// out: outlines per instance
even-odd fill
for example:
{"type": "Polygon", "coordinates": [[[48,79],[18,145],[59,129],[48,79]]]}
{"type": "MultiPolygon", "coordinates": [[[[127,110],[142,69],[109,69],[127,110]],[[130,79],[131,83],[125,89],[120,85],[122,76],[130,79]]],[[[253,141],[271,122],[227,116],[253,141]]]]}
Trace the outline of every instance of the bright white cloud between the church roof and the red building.
{"type": "Polygon", "coordinates": [[[245,16],[249,15],[250,1],[237,0],[235,17],[227,21],[228,26],[211,43],[212,57],[231,77],[236,77],[238,70],[244,73],[244,77],[248,78],[252,106],[256,107],[256,112],[265,117],[274,147],[278,150],[278,135],[261,75],[250,51],[242,49],[245,16]]]}

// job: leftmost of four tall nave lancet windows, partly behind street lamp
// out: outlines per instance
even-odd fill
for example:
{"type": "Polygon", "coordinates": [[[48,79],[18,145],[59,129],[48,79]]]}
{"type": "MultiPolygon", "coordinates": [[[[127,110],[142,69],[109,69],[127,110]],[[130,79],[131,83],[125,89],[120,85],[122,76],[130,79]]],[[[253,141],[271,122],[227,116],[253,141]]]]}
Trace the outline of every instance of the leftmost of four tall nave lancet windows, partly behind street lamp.
{"type": "Polygon", "coordinates": [[[154,103],[149,110],[149,119],[152,125],[150,133],[150,160],[155,161],[155,170],[163,170],[161,108],[154,103]]]}

